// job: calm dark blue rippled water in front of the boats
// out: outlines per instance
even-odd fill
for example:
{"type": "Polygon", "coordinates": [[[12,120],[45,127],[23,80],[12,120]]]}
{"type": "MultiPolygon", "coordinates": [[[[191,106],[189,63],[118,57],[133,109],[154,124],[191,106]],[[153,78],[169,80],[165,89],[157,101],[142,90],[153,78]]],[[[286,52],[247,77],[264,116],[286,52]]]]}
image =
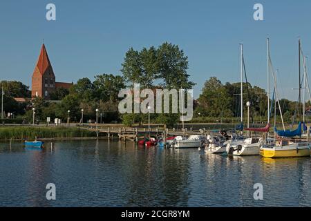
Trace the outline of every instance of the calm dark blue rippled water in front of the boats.
{"type": "Polygon", "coordinates": [[[311,206],[311,164],[118,141],[0,143],[0,206],[311,206]],[[57,200],[46,200],[48,183],[57,200]]]}

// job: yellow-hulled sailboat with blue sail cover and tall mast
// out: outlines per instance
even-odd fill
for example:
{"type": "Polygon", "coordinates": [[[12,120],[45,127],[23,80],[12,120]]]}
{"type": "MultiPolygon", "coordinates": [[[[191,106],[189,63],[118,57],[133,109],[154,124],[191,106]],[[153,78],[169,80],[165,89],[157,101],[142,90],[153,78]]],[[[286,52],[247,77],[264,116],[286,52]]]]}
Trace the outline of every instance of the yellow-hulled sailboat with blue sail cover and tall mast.
{"type": "MultiPolygon", "coordinates": [[[[301,70],[301,40],[299,39],[299,106],[300,106],[300,90],[301,90],[301,79],[300,79],[300,70],[301,70]]],[[[304,64],[305,68],[305,64],[304,64]]],[[[306,73],[306,71],[305,71],[306,73]]],[[[305,79],[304,73],[304,79],[305,79]]],[[[275,82],[275,78],[274,78],[275,82]]],[[[275,84],[275,83],[274,83],[275,84]]],[[[304,80],[305,84],[305,80],[304,80]]],[[[305,86],[304,86],[305,90],[305,86]]],[[[305,102],[305,101],[303,101],[305,102]]],[[[281,108],[280,108],[281,113],[281,108]]],[[[303,124],[304,122],[305,110],[303,110],[303,124]]],[[[281,113],[282,117],[282,113],[281,113]]],[[[282,118],[283,122],[283,118],[282,118]]],[[[295,130],[285,130],[283,126],[282,130],[277,130],[274,128],[276,133],[277,140],[276,143],[272,146],[263,146],[261,147],[261,156],[263,157],[310,157],[310,146],[307,140],[301,140],[301,122],[299,122],[298,127],[295,130]]],[[[309,131],[308,131],[309,133],[309,131]]]]}

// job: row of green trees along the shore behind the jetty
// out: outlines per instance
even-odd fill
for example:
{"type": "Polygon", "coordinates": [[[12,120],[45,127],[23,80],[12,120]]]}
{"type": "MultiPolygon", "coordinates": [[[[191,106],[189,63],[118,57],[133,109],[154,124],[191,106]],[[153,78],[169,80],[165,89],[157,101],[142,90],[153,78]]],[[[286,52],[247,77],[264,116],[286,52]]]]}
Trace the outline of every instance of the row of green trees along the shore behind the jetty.
{"type": "MultiPolygon", "coordinates": [[[[35,108],[36,118],[44,122],[46,117],[68,117],[79,122],[84,110],[84,122],[95,119],[95,109],[102,113],[102,122],[123,122],[126,125],[148,121],[146,114],[124,114],[118,112],[120,97],[118,93],[123,88],[131,88],[133,84],[140,84],[140,88],[175,88],[176,90],[191,89],[195,83],[189,80],[189,61],[185,52],[178,46],[165,42],[155,47],[134,50],[130,48],[122,62],[122,75],[100,74],[91,80],[88,77],[79,79],[68,90],[57,88],[50,94],[50,102],[36,97],[32,101],[19,103],[14,97],[30,97],[28,86],[19,81],[1,81],[3,85],[3,107],[6,113],[28,119],[32,122],[32,107],[35,108]]],[[[217,77],[210,77],[205,81],[200,96],[194,101],[194,117],[204,122],[210,119],[224,119],[234,122],[241,116],[241,83],[223,84],[217,77]]],[[[250,103],[251,122],[265,122],[267,119],[267,95],[263,88],[243,83],[243,110],[247,113],[246,102],[250,103]]],[[[272,101],[271,101],[272,102],[272,101]]],[[[296,114],[297,102],[281,99],[281,108],[285,122],[291,122],[296,114]]],[[[307,106],[310,106],[308,102],[307,106]]],[[[246,115],[245,115],[246,116],[246,115]]],[[[277,113],[279,117],[279,111],[277,113]]],[[[278,118],[279,119],[279,118],[278,118]]],[[[152,114],[151,122],[161,124],[176,124],[178,114],[152,114]]]]}

